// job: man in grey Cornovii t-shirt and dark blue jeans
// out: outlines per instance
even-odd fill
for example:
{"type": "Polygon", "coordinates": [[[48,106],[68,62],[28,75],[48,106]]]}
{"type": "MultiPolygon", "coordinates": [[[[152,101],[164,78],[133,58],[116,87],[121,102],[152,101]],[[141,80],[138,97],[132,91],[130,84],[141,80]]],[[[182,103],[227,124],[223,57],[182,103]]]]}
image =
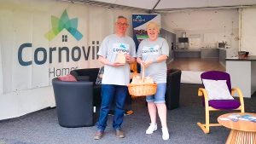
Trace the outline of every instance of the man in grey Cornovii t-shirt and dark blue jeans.
{"type": "Polygon", "coordinates": [[[104,74],[102,76],[102,106],[96,124],[95,140],[101,139],[104,134],[112,101],[115,101],[113,130],[117,137],[125,137],[121,124],[124,118],[125,97],[128,94],[127,84],[130,82],[129,63],[135,61],[136,49],[132,38],[125,36],[129,26],[128,20],[124,16],[119,16],[114,26],[115,34],[104,38],[97,54],[98,60],[104,65],[104,74]],[[115,62],[120,53],[125,54],[125,63],[115,62]]]}

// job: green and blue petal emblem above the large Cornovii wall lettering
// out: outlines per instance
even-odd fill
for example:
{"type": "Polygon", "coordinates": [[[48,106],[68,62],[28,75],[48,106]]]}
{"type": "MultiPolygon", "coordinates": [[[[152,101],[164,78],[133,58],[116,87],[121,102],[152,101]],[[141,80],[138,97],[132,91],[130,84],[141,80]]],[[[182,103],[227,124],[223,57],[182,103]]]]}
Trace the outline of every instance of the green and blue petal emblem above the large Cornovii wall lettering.
{"type": "Polygon", "coordinates": [[[63,29],[73,35],[78,41],[83,37],[83,35],[78,31],[78,18],[69,19],[67,15],[67,10],[61,14],[61,19],[51,16],[51,26],[52,29],[47,32],[44,36],[51,41],[56,37],[63,29]]]}

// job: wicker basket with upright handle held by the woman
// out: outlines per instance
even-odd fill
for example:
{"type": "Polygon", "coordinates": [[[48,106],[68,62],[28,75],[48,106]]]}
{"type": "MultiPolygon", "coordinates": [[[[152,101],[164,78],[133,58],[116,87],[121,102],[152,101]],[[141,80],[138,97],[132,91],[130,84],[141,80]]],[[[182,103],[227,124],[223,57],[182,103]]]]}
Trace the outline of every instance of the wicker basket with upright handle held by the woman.
{"type": "MultiPolygon", "coordinates": [[[[145,68],[143,67],[143,77],[144,79],[144,72],[145,68]]],[[[128,84],[129,94],[132,96],[147,96],[147,95],[154,95],[156,93],[157,84],[128,84]]]]}

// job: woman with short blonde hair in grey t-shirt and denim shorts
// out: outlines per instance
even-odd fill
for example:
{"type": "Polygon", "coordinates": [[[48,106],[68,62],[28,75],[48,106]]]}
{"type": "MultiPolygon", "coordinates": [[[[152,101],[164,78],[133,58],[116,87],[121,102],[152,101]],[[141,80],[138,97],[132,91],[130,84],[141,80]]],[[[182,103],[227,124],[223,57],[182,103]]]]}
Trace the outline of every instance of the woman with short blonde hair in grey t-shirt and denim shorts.
{"type": "Polygon", "coordinates": [[[166,59],[169,55],[169,46],[166,39],[158,37],[160,27],[156,22],[149,22],[147,25],[148,38],[144,39],[137,50],[137,62],[145,66],[145,77],[151,77],[157,84],[155,95],[147,95],[148,112],[151,124],[146,134],[152,134],[157,130],[156,113],[160,117],[162,125],[163,140],[169,139],[169,132],[166,124],[166,59]]]}

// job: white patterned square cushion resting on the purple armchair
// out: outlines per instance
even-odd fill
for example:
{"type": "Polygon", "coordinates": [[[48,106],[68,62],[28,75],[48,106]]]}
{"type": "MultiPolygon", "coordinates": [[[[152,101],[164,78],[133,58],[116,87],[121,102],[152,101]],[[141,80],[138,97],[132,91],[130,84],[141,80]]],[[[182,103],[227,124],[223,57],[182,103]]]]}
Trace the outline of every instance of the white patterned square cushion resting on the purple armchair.
{"type": "Polygon", "coordinates": [[[234,100],[226,80],[202,79],[209,100],[234,100]]]}

